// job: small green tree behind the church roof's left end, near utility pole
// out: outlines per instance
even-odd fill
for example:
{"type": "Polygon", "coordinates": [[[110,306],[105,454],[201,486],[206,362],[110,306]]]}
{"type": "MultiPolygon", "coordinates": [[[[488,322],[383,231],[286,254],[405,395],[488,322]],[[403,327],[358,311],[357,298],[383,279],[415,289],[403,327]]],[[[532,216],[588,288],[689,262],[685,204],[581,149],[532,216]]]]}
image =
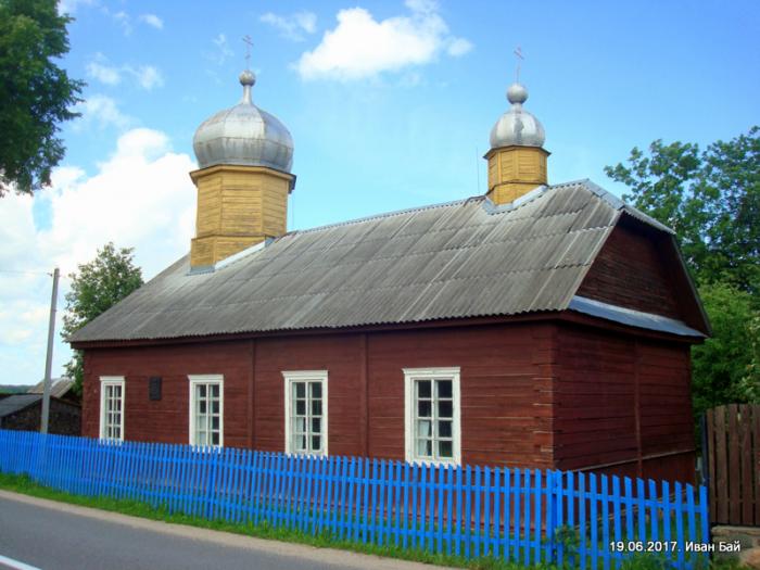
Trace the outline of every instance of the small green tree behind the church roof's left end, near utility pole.
{"type": "MultiPolygon", "coordinates": [[[[63,316],[64,339],[111,308],[142,284],[142,271],[132,263],[134,249],[117,250],[113,242],[98,250],[96,258],[81,264],[71,274],[72,289],[66,293],[66,313],[63,316]]],[[[66,373],[75,380],[75,390],[81,392],[84,366],[80,351],[66,365],[66,373]]]]}

